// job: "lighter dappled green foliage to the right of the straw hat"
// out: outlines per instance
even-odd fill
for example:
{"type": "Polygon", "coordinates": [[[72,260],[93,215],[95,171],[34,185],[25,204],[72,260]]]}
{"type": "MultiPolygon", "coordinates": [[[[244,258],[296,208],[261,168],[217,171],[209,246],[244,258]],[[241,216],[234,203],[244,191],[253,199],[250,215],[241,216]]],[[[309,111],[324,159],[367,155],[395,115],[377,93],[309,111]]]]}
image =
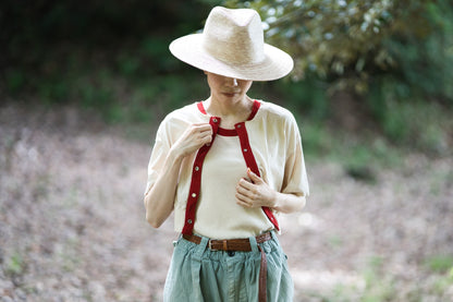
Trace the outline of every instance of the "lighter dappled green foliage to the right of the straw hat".
{"type": "Polygon", "coordinates": [[[309,110],[318,106],[317,116],[329,116],[331,106],[320,101],[320,93],[311,95],[320,85],[310,88],[304,83],[323,83],[328,97],[342,90],[365,100],[394,142],[414,138],[404,111],[411,106],[436,101],[452,108],[450,0],[225,2],[260,13],[267,41],[295,58],[292,85],[296,88],[289,94],[297,102],[308,102],[309,110]],[[308,100],[301,100],[302,96],[308,100]]]}

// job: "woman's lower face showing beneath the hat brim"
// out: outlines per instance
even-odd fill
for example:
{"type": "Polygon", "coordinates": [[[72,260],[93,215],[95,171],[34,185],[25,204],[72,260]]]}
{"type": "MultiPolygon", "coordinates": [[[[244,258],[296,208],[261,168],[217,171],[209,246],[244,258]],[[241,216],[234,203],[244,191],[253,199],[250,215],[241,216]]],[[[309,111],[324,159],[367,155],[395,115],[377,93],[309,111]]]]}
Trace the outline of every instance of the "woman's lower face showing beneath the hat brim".
{"type": "Polygon", "coordinates": [[[220,101],[242,101],[253,81],[236,80],[205,71],[211,96],[220,101]]]}

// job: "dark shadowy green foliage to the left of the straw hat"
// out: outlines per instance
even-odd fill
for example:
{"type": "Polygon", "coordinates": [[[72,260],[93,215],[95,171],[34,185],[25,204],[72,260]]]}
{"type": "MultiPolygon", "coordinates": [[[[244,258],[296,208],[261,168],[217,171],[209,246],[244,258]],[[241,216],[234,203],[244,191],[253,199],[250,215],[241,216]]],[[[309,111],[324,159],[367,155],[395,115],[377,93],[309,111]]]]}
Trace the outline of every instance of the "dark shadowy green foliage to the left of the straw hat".
{"type": "Polygon", "coordinates": [[[203,27],[213,0],[0,3],[0,95],[73,102],[107,121],[160,118],[206,89],[168,51],[203,27]]]}

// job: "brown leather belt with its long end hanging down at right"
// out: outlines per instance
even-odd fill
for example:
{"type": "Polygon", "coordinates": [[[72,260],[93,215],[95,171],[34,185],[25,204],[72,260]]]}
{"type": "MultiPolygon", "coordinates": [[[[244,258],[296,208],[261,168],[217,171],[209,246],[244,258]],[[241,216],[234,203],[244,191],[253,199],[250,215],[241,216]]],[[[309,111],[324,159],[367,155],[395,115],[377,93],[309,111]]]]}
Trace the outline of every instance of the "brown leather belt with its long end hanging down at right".
{"type": "MultiPolygon", "coordinates": [[[[196,244],[201,243],[201,238],[196,234],[183,234],[183,238],[187,241],[191,241],[196,244]]],[[[256,237],[257,243],[262,243],[268,240],[271,240],[272,235],[270,232],[260,234],[256,237]]],[[[208,247],[211,251],[235,251],[235,252],[252,252],[250,241],[248,239],[228,239],[228,240],[209,240],[208,247]]],[[[258,245],[258,250],[261,253],[261,263],[259,269],[259,290],[258,290],[258,301],[267,301],[267,270],[268,262],[266,259],[266,253],[258,245]]]]}

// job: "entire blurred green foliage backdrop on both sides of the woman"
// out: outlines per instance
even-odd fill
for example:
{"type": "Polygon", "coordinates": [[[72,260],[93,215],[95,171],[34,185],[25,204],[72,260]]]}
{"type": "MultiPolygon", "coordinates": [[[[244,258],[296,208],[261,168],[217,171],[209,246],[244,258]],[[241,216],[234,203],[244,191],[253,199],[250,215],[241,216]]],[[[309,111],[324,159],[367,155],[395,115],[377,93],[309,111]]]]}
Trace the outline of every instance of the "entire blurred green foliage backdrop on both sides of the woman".
{"type": "Polygon", "coordinates": [[[308,119],[308,150],[332,145],[321,136],[329,134],[323,124],[335,114],[339,90],[354,95],[392,142],[449,149],[448,0],[3,1],[0,97],[78,104],[110,122],[157,122],[207,96],[203,73],[174,59],[168,45],[203,28],[218,4],[257,9],[267,41],[294,57],[291,80],[255,83],[250,96],[308,119]]]}

